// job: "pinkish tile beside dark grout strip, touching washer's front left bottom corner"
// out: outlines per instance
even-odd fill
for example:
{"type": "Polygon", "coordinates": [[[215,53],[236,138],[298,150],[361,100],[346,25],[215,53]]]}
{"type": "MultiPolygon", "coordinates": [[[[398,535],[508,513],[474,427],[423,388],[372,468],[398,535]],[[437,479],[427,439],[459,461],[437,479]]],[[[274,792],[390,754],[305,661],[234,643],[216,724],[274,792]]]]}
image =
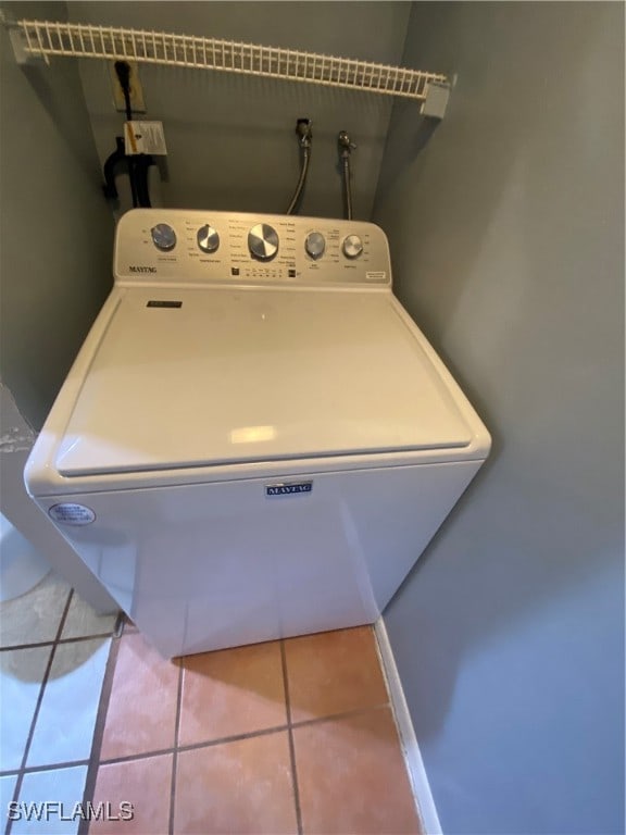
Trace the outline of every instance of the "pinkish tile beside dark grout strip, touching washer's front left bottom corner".
{"type": "Polygon", "coordinates": [[[120,638],[102,760],[174,747],[178,672],[141,634],[120,638]]]}

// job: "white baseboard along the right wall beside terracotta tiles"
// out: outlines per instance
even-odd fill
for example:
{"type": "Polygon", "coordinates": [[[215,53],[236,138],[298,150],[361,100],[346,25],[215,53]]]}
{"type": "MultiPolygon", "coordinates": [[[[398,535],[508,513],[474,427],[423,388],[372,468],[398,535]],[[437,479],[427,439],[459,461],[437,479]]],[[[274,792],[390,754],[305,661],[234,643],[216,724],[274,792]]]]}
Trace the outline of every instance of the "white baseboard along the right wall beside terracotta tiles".
{"type": "Polygon", "coordinates": [[[426,769],[424,768],[424,761],[420,753],[417,737],[413,730],[411,714],[409,713],[409,707],[406,705],[406,699],[404,698],[402,683],[398,674],[398,668],[396,666],[396,660],[393,658],[393,652],[391,651],[391,645],[389,644],[389,637],[387,636],[387,628],[383,618],[379,618],[374,624],[374,632],[376,634],[376,640],[378,641],[378,651],[380,653],[383,671],[387,678],[389,699],[396,715],[396,724],[398,725],[400,743],[404,749],[404,759],[406,761],[409,778],[411,781],[413,796],[415,797],[415,803],[422,818],[424,832],[427,833],[427,835],[442,835],[441,824],[439,823],[439,817],[433,799],[433,793],[430,792],[430,785],[428,783],[428,777],[426,776],[426,769]]]}

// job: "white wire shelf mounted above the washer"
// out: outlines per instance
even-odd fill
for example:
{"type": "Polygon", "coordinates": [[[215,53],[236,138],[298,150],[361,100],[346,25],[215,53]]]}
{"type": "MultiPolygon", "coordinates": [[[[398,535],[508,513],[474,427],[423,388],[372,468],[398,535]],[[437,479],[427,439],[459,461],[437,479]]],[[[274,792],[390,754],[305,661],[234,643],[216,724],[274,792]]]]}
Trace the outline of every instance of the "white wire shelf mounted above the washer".
{"type": "Polygon", "coordinates": [[[126,59],[152,64],[221,70],[327,87],[366,90],[426,101],[428,85],[445,75],[347,58],[262,47],[235,40],[50,21],[16,23],[28,55],[126,59]]]}

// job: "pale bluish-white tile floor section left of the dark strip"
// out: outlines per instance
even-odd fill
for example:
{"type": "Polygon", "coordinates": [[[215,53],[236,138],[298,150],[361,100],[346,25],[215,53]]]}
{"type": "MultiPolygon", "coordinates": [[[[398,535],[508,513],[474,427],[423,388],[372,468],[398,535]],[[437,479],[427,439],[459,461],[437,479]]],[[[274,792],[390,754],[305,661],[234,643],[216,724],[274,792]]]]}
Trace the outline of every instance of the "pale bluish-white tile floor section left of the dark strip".
{"type": "Polygon", "coordinates": [[[82,800],[116,615],[48,574],[0,603],[2,831],[71,835],[78,821],[9,821],[11,801],[82,800]]]}

